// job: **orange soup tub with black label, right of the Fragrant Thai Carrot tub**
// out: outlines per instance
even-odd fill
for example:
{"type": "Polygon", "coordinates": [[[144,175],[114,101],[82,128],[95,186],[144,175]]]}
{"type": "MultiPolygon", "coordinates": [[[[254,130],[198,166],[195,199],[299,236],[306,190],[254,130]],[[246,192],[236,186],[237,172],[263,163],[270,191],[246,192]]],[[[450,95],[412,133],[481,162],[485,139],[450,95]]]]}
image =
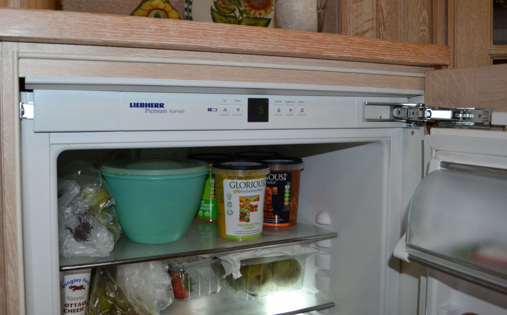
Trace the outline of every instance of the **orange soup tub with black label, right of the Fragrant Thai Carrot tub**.
{"type": "Polygon", "coordinates": [[[299,183],[303,160],[278,157],[263,160],[271,169],[264,198],[264,226],[291,227],[298,220],[299,183]]]}

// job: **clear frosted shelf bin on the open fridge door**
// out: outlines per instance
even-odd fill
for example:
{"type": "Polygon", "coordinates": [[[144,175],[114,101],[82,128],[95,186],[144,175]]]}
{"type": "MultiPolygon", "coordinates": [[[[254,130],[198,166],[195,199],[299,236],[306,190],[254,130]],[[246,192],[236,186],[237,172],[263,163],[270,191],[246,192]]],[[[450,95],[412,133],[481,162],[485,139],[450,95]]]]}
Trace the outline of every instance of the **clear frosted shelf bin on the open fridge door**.
{"type": "Polygon", "coordinates": [[[507,170],[442,161],[410,204],[394,256],[507,293],[507,170]]]}

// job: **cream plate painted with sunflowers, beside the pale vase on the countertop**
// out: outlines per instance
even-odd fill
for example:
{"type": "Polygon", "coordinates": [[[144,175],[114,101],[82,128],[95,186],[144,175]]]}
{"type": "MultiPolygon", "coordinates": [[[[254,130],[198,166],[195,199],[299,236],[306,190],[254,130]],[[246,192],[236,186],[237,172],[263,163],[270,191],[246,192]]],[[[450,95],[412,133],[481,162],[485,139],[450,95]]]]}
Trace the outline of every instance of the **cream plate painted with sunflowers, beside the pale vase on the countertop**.
{"type": "Polygon", "coordinates": [[[185,0],[184,19],[274,27],[275,0],[185,0]]]}

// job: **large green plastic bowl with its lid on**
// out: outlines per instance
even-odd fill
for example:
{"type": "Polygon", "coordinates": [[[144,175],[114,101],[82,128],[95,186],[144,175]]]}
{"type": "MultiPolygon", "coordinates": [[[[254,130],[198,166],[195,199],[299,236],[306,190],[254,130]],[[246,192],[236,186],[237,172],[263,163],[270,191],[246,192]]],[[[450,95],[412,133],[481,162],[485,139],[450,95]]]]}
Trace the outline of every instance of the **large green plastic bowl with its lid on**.
{"type": "Polygon", "coordinates": [[[100,172],[116,199],[125,235],[139,243],[160,244],[187,232],[209,166],[189,159],[117,160],[104,163],[100,172]]]}

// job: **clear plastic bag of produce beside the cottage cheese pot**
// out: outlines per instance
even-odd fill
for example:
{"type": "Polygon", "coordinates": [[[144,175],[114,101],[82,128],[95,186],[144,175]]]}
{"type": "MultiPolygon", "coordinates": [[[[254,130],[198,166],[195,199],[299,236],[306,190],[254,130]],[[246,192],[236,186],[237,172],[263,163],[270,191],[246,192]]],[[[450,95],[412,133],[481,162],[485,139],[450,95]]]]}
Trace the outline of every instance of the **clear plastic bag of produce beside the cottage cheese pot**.
{"type": "Polygon", "coordinates": [[[163,261],[97,268],[88,315],[158,315],[174,300],[163,261]]]}

